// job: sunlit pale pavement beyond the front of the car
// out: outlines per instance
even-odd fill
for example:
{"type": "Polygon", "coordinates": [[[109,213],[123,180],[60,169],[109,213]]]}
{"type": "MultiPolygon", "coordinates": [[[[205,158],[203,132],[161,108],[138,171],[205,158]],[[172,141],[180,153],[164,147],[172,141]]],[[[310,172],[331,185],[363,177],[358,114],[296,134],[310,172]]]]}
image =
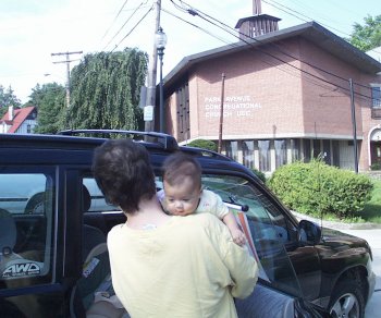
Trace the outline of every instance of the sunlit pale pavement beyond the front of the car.
{"type": "Polygon", "coordinates": [[[297,219],[316,222],[322,227],[367,240],[373,254],[373,272],[376,273],[376,288],[373,296],[365,308],[365,318],[381,318],[381,224],[374,223],[344,223],[315,219],[305,215],[293,212],[297,219]],[[377,292],[377,290],[380,290],[377,292]]]}

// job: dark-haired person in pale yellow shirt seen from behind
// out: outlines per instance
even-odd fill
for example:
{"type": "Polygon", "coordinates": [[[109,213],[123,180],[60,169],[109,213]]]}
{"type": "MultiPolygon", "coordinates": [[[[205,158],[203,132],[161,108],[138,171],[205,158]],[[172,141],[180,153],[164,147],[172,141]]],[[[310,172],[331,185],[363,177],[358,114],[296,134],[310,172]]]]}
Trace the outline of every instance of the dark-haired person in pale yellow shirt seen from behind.
{"type": "Polygon", "coordinates": [[[237,317],[233,297],[246,297],[257,264],[209,213],[164,213],[144,146],[106,142],[94,174],[106,198],[127,217],[108,235],[115,294],[133,318],[237,317]]]}

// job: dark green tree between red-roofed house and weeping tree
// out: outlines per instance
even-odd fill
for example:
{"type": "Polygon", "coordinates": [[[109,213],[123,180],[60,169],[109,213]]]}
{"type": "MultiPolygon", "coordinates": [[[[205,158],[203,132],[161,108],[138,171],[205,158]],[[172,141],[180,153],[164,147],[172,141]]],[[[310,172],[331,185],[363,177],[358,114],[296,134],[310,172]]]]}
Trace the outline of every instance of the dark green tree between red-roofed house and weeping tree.
{"type": "Polygon", "coordinates": [[[65,88],[57,83],[36,85],[28,103],[38,108],[35,133],[54,134],[63,130],[65,118],[65,88]]]}

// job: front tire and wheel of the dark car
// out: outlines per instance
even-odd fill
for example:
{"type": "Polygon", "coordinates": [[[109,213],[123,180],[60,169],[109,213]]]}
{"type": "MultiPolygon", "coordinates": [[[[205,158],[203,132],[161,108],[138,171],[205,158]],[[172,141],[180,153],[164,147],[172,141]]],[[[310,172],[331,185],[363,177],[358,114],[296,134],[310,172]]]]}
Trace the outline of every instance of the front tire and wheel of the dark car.
{"type": "Polygon", "coordinates": [[[341,281],[332,293],[331,317],[364,318],[365,301],[361,288],[354,281],[341,281]]]}

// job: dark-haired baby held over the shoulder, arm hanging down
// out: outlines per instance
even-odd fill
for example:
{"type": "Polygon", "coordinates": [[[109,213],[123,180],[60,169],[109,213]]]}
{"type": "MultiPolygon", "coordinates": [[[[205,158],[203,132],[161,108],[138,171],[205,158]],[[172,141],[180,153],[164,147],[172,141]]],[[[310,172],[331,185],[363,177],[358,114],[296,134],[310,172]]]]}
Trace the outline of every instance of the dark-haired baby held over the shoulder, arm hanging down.
{"type": "Polygon", "coordinates": [[[234,243],[246,243],[234,215],[221,197],[201,188],[201,167],[198,161],[183,152],[169,156],[163,163],[163,189],[158,198],[164,210],[174,216],[209,212],[217,216],[229,228],[234,243]]]}

